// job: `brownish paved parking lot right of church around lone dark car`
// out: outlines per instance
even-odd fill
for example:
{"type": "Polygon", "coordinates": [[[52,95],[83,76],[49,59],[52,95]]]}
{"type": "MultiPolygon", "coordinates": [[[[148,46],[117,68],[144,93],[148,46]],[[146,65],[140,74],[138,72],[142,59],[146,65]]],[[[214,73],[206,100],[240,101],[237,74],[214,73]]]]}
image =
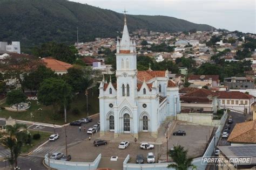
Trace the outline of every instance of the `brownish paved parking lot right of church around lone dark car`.
{"type": "MultiPolygon", "coordinates": [[[[184,146],[184,148],[188,150],[188,157],[196,158],[200,157],[200,155],[204,153],[209,136],[211,136],[213,131],[213,127],[179,122],[173,132],[178,130],[185,131],[186,136],[173,136],[171,134],[168,141],[169,149],[173,148],[173,145],[178,144],[184,146]]],[[[163,147],[163,151],[166,151],[166,146],[163,145],[163,147]]],[[[161,159],[165,160],[166,154],[162,154],[161,159]]]]}

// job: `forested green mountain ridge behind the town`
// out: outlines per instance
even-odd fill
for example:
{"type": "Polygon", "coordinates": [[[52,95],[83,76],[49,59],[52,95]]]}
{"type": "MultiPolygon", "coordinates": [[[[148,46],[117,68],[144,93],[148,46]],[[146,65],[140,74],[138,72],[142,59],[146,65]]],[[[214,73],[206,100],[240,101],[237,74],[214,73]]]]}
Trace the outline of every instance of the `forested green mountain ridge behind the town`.
{"type": "MultiPolygon", "coordinates": [[[[74,43],[95,37],[115,37],[122,31],[124,15],[95,6],[64,0],[1,0],[0,41],[21,41],[23,47],[43,42],[74,43]]],[[[166,16],[127,15],[130,31],[147,29],[158,32],[211,30],[166,16]]]]}

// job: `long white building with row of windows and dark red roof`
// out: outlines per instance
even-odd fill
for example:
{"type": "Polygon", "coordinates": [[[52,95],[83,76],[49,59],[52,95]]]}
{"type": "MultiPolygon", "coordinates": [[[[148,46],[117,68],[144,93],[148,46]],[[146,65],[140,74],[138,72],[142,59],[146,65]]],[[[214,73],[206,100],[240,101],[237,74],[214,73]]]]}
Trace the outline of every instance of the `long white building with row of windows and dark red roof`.
{"type": "Polygon", "coordinates": [[[217,91],[221,108],[250,114],[254,96],[240,91],[217,91]]]}

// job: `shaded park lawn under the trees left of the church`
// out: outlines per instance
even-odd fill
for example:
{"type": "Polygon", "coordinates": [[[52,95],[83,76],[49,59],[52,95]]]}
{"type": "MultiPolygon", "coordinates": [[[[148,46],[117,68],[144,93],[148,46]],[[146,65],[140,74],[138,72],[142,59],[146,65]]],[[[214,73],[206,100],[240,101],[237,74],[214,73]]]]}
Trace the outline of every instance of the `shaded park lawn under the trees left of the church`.
{"type": "MultiPolygon", "coordinates": [[[[99,99],[98,99],[98,87],[94,87],[89,90],[88,96],[88,104],[89,104],[89,115],[97,114],[99,112],[99,99]]],[[[9,118],[11,116],[14,119],[19,119],[23,121],[31,121],[31,122],[42,122],[42,123],[55,123],[58,125],[64,124],[64,113],[59,113],[59,107],[56,107],[55,114],[57,115],[58,119],[54,120],[53,115],[53,107],[51,105],[37,105],[36,101],[30,101],[31,107],[26,111],[8,111],[8,110],[1,110],[0,117],[1,118],[9,118]],[[42,108],[41,114],[38,111],[39,108],[42,108]],[[31,112],[34,117],[31,117],[31,112]],[[40,116],[41,115],[41,116],[40,116]]],[[[67,111],[67,121],[72,122],[79,118],[86,117],[86,96],[84,94],[76,95],[72,103],[70,104],[71,108],[67,111]],[[80,114],[74,115],[72,114],[72,110],[77,108],[80,111],[80,114]]],[[[8,107],[6,103],[0,105],[1,107],[8,107]]]]}

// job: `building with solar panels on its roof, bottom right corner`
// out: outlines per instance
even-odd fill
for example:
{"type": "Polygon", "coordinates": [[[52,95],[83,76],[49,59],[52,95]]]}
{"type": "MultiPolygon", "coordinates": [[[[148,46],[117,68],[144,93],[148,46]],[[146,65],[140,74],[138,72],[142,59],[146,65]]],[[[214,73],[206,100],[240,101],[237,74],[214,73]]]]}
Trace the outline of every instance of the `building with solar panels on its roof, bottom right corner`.
{"type": "Polygon", "coordinates": [[[223,163],[218,166],[220,170],[254,169],[256,166],[256,145],[239,146],[218,146],[220,150],[219,158],[223,163]],[[249,152],[250,151],[250,152],[249,152]],[[233,164],[234,158],[252,158],[248,163],[233,164]]]}

